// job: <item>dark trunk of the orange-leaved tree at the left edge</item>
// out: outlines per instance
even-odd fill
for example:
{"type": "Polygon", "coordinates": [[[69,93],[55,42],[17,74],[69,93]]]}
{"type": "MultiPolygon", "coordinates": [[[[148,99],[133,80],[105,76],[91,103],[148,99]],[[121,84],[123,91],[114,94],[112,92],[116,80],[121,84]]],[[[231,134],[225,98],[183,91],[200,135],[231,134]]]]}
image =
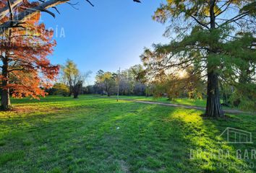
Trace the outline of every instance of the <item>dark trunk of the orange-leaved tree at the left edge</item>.
{"type": "Polygon", "coordinates": [[[8,61],[7,58],[3,58],[3,68],[2,68],[2,92],[1,92],[1,109],[9,110],[11,108],[11,100],[9,96],[9,75],[8,75],[8,61]]]}

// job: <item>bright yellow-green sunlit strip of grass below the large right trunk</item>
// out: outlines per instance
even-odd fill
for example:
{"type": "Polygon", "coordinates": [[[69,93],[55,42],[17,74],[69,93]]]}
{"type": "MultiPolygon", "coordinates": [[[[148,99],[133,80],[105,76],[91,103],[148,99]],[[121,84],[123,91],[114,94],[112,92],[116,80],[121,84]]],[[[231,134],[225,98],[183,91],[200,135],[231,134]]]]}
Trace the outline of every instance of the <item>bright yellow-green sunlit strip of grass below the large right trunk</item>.
{"type": "Polygon", "coordinates": [[[200,169],[205,172],[241,172],[239,168],[248,167],[244,160],[236,158],[237,148],[218,143],[216,139],[221,132],[211,120],[204,120],[201,114],[200,111],[176,110],[170,115],[170,118],[182,120],[185,128],[189,130],[185,138],[192,143],[192,163],[199,164],[200,169]],[[233,164],[238,169],[231,167],[233,164]]]}

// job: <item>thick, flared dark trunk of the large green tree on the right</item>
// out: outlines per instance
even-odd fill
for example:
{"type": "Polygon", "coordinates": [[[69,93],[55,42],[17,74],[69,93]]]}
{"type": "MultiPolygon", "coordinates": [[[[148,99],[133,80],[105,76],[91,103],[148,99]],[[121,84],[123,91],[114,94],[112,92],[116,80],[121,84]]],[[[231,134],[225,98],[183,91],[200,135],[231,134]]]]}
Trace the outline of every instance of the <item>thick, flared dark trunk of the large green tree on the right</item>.
{"type": "Polygon", "coordinates": [[[223,117],[220,93],[218,89],[218,75],[214,71],[208,72],[207,105],[205,115],[208,117],[223,117]]]}

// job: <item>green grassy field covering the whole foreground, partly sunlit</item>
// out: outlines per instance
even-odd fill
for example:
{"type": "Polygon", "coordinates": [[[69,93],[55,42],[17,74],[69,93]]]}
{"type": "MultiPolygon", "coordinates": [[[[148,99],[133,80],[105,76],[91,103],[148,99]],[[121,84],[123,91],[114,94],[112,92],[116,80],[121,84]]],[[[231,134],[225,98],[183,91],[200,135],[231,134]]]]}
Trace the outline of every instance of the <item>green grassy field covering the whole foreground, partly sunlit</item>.
{"type": "Polygon", "coordinates": [[[13,103],[15,111],[0,112],[3,173],[256,172],[255,115],[213,120],[198,110],[93,96],[13,103]],[[218,143],[227,127],[252,132],[253,143],[218,143]]]}

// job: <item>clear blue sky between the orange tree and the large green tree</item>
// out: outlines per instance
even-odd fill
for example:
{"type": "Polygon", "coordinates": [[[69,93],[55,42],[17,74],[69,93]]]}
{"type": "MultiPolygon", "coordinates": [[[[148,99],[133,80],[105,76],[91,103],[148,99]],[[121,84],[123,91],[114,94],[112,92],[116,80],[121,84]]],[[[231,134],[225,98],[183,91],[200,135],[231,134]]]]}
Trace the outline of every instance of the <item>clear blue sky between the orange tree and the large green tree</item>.
{"type": "Polygon", "coordinates": [[[145,47],[168,42],[163,37],[166,26],[152,19],[161,0],[142,0],[142,4],[132,0],[91,0],[94,7],[77,1],[78,9],[62,4],[56,18],[43,13],[41,22],[55,32],[57,45],[49,57],[51,62],[73,60],[82,73],[93,72],[90,84],[98,70],[124,70],[141,63],[145,47]]]}

